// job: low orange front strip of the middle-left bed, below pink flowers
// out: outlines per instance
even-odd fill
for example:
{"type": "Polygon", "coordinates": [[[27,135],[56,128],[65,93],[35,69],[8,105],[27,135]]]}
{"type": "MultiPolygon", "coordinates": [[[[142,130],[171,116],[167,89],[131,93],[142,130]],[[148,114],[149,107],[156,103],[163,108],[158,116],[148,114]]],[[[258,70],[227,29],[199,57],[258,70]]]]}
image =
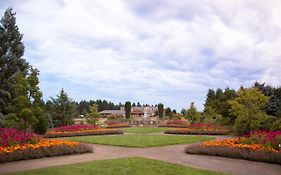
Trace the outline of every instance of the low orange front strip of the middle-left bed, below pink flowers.
{"type": "Polygon", "coordinates": [[[47,132],[45,138],[55,138],[55,137],[73,137],[73,136],[86,136],[86,135],[109,135],[109,134],[123,134],[121,130],[114,129],[94,129],[94,130],[83,130],[83,131],[63,131],[63,132],[47,132]]]}

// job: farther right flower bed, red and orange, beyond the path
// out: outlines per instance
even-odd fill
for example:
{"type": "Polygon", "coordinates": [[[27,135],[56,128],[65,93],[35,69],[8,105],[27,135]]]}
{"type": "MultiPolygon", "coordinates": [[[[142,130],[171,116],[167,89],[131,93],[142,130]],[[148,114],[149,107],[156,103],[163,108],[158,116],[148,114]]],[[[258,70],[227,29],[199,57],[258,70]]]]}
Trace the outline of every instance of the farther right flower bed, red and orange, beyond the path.
{"type": "Polygon", "coordinates": [[[189,135],[226,135],[229,130],[223,126],[195,123],[187,126],[187,128],[170,129],[165,134],[189,134],[189,135]]]}

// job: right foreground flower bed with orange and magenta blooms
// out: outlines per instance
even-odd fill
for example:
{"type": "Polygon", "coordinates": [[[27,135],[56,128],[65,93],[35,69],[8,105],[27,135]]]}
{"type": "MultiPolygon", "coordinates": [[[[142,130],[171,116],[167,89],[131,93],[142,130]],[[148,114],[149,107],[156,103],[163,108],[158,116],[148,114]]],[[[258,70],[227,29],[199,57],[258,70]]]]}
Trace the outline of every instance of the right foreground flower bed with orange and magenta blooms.
{"type": "Polygon", "coordinates": [[[203,142],[188,146],[185,151],[281,164],[281,131],[256,132],[234,139],[203,142]]]}

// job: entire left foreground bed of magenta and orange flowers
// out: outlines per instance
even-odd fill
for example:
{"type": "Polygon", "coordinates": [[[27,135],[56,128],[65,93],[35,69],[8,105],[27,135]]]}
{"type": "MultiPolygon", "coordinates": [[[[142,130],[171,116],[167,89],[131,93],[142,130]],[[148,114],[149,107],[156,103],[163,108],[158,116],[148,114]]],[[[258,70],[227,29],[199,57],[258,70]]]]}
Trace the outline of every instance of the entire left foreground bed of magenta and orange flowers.
{"type": "Polygon", "coordinates": [[[69,140],[47,140],[36,134],[0,128],[0,163],[93,152],[91,146],[69,140]]]}

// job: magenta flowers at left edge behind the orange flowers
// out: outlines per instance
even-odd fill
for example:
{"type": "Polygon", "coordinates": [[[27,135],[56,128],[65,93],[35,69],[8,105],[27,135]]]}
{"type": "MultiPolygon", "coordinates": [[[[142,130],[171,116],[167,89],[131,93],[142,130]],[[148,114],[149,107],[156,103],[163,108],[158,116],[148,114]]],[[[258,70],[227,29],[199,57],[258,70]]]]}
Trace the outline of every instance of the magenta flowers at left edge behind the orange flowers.
{"type": "Polygon", "coordinates": [[[31,132],[18,131],[14,128],[0,128],[0,146],[14,146],[26,143],[36,143],[38,136],[31,132]]]}

